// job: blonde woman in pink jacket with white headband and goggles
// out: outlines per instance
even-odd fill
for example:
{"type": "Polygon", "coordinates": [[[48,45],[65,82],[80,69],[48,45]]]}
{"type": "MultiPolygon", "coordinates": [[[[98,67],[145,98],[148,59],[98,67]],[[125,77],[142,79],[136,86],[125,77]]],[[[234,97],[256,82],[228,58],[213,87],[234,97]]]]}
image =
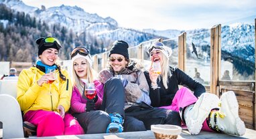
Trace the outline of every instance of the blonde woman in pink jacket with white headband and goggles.
{"type": "Polygon", "coordinates": [[[73,64],[72,115],[76,117],[86,134],[105,133],[111,120],[107,112],[99,110],[103,102],[103,84],[97,80],[97,72],[92,69],[90,53],[85,47],[76,47],[71,52],[71,59],[73,64]],[[89,83],[94,84],[97,92],[92,99],[84,96],[84,86],[89,83]]]}

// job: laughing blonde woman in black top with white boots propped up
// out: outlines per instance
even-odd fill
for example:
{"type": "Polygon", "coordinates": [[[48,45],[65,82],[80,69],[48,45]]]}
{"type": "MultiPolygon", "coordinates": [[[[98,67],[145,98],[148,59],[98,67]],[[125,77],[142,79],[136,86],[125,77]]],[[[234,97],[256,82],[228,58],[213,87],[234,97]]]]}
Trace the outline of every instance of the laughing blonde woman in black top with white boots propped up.
{"type": "Polygon", "coordinates": [[[201,129],[245,134],[245,124],[239,118],[234,92],[226,92],[220,99],[214,94],[204,93],[206,90],[202,84],[180,69],[168,65],[172,51],[163,43],[152,43],[149,54],[151,63],[159,62],[161,65],[161,74],[155,73],[152,66],[145,72],[147,84],[151,86],[149,96],[152,106],[180,112],[191,134],[199,134],[201,129]],[[190,89],[179,89],[179,85],[190,89]],[[220,103],[221,106],[218,105],[220,103]]]}

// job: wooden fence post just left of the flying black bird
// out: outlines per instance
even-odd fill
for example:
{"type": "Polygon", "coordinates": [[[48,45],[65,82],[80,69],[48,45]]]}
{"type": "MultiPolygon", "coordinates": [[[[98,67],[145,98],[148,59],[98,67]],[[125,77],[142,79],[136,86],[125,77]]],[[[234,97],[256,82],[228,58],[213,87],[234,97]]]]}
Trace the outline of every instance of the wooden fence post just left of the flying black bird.
{"type": "Polygon", "coordinates": [[[179,35],[178,43],[178,67],[183,72],[186,69],[186,32],[179,35]]]}

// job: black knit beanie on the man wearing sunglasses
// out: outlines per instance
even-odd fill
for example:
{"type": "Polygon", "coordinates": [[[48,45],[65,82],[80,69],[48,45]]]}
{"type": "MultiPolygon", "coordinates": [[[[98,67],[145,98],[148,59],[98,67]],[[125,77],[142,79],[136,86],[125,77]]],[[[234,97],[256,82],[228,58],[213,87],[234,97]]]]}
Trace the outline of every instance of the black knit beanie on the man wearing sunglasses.
{"type": "Polygon", "coordinates": [[[109,57],[111,54],[117,53],[129,59],[128,47],[129,45],[125,41],[122,41],[122,40],[115,41],[111,47],[109,57]]]}

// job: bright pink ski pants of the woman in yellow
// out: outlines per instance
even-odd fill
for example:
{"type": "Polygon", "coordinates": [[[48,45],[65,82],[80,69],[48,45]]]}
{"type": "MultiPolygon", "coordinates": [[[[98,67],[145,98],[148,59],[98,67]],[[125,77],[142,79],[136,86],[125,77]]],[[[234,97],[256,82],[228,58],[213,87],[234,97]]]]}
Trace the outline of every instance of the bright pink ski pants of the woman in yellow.
{"type": "Polygon", "coordinates": [[[23,118],[38,127],[37,136],[84,134],[84,130],[71,114],[65,114],[62,119],[58,112],[31,110],[23,118]]]}

